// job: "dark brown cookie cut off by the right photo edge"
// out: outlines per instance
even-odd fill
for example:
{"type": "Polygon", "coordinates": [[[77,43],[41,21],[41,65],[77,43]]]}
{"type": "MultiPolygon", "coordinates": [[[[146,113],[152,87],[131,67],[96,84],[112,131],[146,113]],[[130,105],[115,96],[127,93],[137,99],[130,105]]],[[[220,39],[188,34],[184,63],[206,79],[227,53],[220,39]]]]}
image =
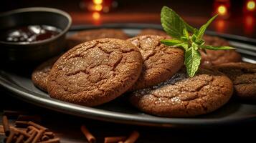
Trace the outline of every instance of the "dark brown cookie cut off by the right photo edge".
{"type": "Polygon", "coordinates": [[[256,100],[256,64],[237,62],[214,66],[234,84],[234,93],[240,99],[256,100]]]}

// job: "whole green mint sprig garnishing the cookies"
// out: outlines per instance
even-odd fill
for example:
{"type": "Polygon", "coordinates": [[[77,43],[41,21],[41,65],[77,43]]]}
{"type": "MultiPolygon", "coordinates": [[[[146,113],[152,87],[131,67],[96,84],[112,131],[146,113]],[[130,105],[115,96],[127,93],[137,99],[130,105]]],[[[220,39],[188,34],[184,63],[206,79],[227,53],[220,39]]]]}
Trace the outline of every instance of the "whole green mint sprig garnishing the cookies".
{"type": "Polygon", "coordinates": [[[163,6],[161,10],[161,24],[163,30],[166,31],[173,39],[163,39],[161,43],[168,46],[178,46],[185,51],[184,64],[189,77],[194,77],[199,69],[201,62],[200,49],[211,50],[228,50],[234,49],[230,46],[210,46],[204,45],[204,32],[209,24],[214,21],[217,15],[213,16],[206,24],[196,29],[184,21],[181,16],[167,6],[163,6]]]}

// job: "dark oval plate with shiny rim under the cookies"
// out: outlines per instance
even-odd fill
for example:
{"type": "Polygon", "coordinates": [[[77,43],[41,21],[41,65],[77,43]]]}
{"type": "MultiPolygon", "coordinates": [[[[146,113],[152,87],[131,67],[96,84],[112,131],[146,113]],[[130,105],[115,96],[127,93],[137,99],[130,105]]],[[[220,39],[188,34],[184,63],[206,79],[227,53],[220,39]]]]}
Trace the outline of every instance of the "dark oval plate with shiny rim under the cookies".
{"type": "MultiPolygon", "coordinates": [[[[84,29],[115,28],[123,29],[127,34],[134,36],[141,29],[161,29],[154,24],[108,24],[103,26],[75,26],[70,29],[69,34],[84,29]]],[[[241,36],[216,34],[208,31],[208,34],[221,36],[237,47],[244,61],[256,62],[256,41],[241,36]]],[[[12,92],[12,96],[58,112],[73,114],[80,117],[98,119],[108,122],[119,122],[125,124],[151,125],[158,127],[202,127],[220,124],[237,124],[256,121],[256,104],[240,103],[232,99],[224,107],[215,112],[193,118],[164,118],[144,114],[131,107],[123,97],[100,107],[83,107],[76,104],[62,102],[52,99],[48,94],[34,87],[30,79],[31,72],[17,74],[18,72],[0,69],[0,84],[12,92]]]]}

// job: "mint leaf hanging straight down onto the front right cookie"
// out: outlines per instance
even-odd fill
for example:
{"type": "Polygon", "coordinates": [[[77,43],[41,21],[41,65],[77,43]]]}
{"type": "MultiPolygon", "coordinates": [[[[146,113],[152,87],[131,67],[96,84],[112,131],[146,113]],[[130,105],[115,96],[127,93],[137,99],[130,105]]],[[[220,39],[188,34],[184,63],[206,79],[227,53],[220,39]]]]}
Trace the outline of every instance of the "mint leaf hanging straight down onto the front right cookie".
{"type": "Polygon", "coordinates": [[[186,72],[189,74],[189,77],[194,77],[194,74],[196,74],[196,71],[199,68],[200,61],[201,55],[198,50],[189,47],[189,49],[185,51],[186,72]]]}

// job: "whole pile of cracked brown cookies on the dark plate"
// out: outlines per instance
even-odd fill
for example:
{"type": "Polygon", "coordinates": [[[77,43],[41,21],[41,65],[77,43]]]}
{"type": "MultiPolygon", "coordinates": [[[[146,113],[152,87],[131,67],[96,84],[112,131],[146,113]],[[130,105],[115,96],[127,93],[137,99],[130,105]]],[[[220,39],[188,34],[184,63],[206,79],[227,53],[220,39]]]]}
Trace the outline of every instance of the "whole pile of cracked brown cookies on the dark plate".
{"type": "MultiPolygon", "coordinates": [[[[237,63],[237,51],[201,51],[202,67],[190,78],[184,51],[161,44],[171,38],[163,31],[145,29],[127,38],[116,29],[78,32],[67,39],[70,47],[77,45],[39,65],[32,81],[54,99],[88,107],[127,92],[134,107],[161,117],[213,112],[229,101],[233,87],[237,97],[256,99],[256,65],[237,63]]],[[[228,44],[212,36],[205,39],[215,46],[228,44]]]]}

